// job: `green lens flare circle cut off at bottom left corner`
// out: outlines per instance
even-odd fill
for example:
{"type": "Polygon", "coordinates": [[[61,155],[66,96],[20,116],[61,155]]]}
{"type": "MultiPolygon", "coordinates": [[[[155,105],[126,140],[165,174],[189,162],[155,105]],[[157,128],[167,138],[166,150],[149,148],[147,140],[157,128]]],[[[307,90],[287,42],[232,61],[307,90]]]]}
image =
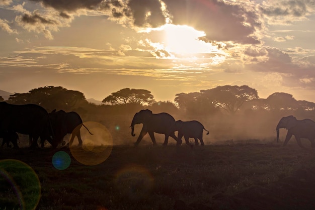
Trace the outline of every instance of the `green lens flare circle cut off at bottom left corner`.
{"type": "Polygon", "coordinates": [[[29,165],[19,160],[6,159],[0,161],[0,191],[8,196],[8,203],[2,203],[4,209],[35,209],[41,196],[41,185],[29,165]],[[12,200],[11,188],[18,201],[12,200]],[[19,206],[16,206],[17,203],[19,206]]]}

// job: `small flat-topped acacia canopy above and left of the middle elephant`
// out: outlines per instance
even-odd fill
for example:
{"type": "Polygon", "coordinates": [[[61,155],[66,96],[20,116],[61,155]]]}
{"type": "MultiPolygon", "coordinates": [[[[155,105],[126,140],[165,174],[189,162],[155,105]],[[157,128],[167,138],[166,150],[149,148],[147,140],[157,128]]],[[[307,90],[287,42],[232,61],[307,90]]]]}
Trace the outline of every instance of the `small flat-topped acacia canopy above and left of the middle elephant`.
{"type": "Polygon", "coordinates": [[[154,101],[153,95],[148,90],[124,88],[104,98],[102,103],[110,103],[112,105],[138,103],[143,105],[151,104],[154,101]]]}

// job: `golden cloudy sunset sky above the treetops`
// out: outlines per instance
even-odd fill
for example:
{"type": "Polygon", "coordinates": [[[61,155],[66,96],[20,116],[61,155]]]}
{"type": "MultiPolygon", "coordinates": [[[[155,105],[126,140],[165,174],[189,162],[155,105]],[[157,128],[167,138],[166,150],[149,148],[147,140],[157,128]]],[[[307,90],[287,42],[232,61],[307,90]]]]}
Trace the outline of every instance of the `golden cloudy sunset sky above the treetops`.
{"type": "Polygon", "coordinates": [[[222,85],[315,102],[315,0],[0,0],[0,89],[222,85]]]}

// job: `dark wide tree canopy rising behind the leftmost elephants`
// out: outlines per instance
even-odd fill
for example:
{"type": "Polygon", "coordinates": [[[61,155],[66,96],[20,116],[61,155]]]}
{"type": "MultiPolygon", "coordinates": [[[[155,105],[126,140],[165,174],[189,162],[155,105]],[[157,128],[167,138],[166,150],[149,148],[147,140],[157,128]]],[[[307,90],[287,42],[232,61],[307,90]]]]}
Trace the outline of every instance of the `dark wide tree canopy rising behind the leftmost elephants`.
{"type": "Polygon", "coordinates": [[[27,93],[15,93],[9,97],[8,101],[13,104],[34,103],[48,111],[54,109],[71,111],[82,103],[88,103],[82,92],[67,90],[61,86],[45,86],[32,89],[27,93]]]}

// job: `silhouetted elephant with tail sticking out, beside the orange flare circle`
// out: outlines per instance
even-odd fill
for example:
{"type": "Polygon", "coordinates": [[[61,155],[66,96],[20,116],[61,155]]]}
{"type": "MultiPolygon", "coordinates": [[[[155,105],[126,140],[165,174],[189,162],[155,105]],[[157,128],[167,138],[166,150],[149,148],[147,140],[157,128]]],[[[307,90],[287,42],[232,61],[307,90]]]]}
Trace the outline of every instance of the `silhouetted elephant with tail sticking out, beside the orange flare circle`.
{"type": "Polygon", "coordinates": [[[80,129],[84,126],[88,132],[93,135],[89,129],[83,124],[80,115],[76,112],[64,112],[63,110],[53,110],[49,113],[50,121],[52,124],[52,128],[55,134],[55,138],[57,142],[63,141],[63,138],[66,134],[72,134],[71,139],[69,141],[69,145],[71,146],[74,137],[77,137],[78,146],[82,146],[82,139],[80,129]]]}

